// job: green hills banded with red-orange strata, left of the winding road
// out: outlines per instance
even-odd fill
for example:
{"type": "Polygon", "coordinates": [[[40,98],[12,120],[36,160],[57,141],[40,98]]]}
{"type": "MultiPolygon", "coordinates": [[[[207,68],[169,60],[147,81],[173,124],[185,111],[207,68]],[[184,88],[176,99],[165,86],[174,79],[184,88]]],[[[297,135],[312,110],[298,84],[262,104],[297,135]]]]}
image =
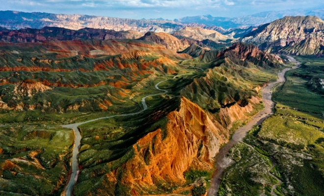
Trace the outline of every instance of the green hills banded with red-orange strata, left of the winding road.
{"type": "Polygon", "coordinates": [[[143,40],[7,43],[0,48],[1,108],[49,113],[135,105],[132,97],[146,82],[156,74],[175,73],[175,62],[189,57],[143,40]]]}

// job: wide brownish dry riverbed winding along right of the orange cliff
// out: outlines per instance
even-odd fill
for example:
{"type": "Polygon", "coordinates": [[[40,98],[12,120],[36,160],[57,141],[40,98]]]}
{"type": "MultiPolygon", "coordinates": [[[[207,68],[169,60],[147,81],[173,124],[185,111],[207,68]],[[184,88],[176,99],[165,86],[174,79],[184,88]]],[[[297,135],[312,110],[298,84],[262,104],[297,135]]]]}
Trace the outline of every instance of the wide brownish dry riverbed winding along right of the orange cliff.
{"type": "MultiPolygon", "coordinates": [[[[276,86],[279,83],[283,83],[286,81],[285,73],[288,72],[291,69],[296,69],[300,67],[300,63],[297,62],[293,57],[287,56],[288,59],[295,63],[296,66],[292,68],[286,68],[282,70],[281,72],[278,73],[278,80],[275,82],[270,83],[267,87],[262,89],[262,98],[263,98],[263,103],[265,106],[265,109],[260,111],[258,114],[256,114],[252,120],[247,123],[245,126],[240,127],[235,134],[232,137],[232,140],[227,143],[224,147],[222,147],[218,154],[216,155],[216,170],[213,174],[213,180],[211,183],[211,187],[208,190],[207,196],[216,196],[217,191],[219,189],[219,184],[221,182],[220,178],[225,171],[225,169],[231,165],[234,164],[234,161],[227,157],[226,155],[229,153],[229,150],[234,147],[236,144],[239,142],[242,142],[243,138],[246,136],[248,131],[250,131],[254,125],[258,125],[263,123],[264,120],[266,120],[268,117],[270,117],[273,114],[273,107],[274,107],[274,102],[271,99],[271,94],[272,94],[272,88],[276,86]]],[[[273,187],[272,187],[273,188],[273,187]]]]}

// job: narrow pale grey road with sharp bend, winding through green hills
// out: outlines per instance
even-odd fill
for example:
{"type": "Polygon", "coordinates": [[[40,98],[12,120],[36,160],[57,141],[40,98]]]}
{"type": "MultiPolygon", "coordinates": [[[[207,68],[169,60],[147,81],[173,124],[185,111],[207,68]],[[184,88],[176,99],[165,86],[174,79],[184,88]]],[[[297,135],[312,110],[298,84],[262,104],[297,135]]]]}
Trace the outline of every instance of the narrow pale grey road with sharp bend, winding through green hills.
{"type": "MultiPolygon", "coordinates": [[[[199,70],[204,71],[201,68],[199,68],[199,70]]],[[[176,75],[171,79],[174,79],[174,78],[182,76],[182,75],[188,75],[188,74],[189,73],[176,75]]],[[[155,85],[155,89],[157,89],[159,91],[162,91],[162,93],[148,95],[148,96],[141,99],[143,109],[141,111],[139,111],[139,112],[130,113],[130,114],[120,114],[120,115],[114,115],[114,116],[108,116],[108,117],[102,117],[102,118],[93,119],[93,120],[85,121],[85,122],[81,122],[81,123],[61,125],[64,128],[73,129],[74,133],[75,133],[75,142],[74,142],[74,147],[73,147],[72,164],[71,164],[72,172],[71,172],[71,174],[69,176],[68,183],[65,186],[64,192],[62,193],[63,196],[72,196],[73,187],[74,187],[74,185],[76,184],[76,182],[78,180],[78,176],[79,176],[79,172],[80,172],[80,170],[79,170],[79,149],[80,149],[80,145],[81,145],[81,133],[80,133],[80,130],[78,129],[78,126],[80,126],[81,124],[91,123],[91,122],[102,120],[102,119],[110,119],[110,118],[122,117],[122,116],[133,116],[133,115],[140,114],[140,113],[144,112],[145,110],[147,110],[147,105],[146,105],[146,102],[145,102],[146,98],[161,95],[161,94],[165,94],[165,93],[168,92],[167,90],[163,90],[163,89],[159,88],[159,85],[162,82],[165,82],[167,80],[169,80],[169,79],[162,80],[161,82],[159,82],[159,83],[157,83],[155,85]]]]}

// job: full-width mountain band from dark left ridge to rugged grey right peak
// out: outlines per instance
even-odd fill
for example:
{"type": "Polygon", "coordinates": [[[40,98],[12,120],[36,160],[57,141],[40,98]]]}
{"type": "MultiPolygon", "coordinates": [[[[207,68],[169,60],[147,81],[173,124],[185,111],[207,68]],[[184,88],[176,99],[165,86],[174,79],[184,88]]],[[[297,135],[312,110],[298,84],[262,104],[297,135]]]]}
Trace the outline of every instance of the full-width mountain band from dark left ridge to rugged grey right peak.
{"type": "Polygon", "coordinates": [[[199,26],[187,26],[172,34],[134,30],[115,31],[108,29],[82,28],[71,30],[62,27],[24,28],[10,30],[0,27],[0,41],[11,43],[71,41],[71,40],[109,40],[138,39],[162,45],[197,57],[208,50],[224,49],[231,43],[242,41],[253,43],[268,52],[317,55],[324,53],[324,21],[316,16],[286,16],[283,19],[258,27],[227,30],[227,35],[199,26]]]}

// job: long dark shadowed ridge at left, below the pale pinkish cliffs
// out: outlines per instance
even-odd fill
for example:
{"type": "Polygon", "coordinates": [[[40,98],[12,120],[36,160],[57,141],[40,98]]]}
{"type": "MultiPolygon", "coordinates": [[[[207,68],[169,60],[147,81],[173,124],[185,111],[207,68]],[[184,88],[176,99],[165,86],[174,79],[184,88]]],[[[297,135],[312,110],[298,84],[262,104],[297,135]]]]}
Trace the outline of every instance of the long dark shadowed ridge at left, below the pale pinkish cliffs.
{"type": "Polygon", "coordinates": [[[114,31],[106,29],[83,28],[71,30],[59,27],[44,27],[42,29],[0,29],[0,40],[2,42],[43,42],[50,40],[88,40],[88,39],[136,39],[142,34],[133,30],[114,31]]]}

